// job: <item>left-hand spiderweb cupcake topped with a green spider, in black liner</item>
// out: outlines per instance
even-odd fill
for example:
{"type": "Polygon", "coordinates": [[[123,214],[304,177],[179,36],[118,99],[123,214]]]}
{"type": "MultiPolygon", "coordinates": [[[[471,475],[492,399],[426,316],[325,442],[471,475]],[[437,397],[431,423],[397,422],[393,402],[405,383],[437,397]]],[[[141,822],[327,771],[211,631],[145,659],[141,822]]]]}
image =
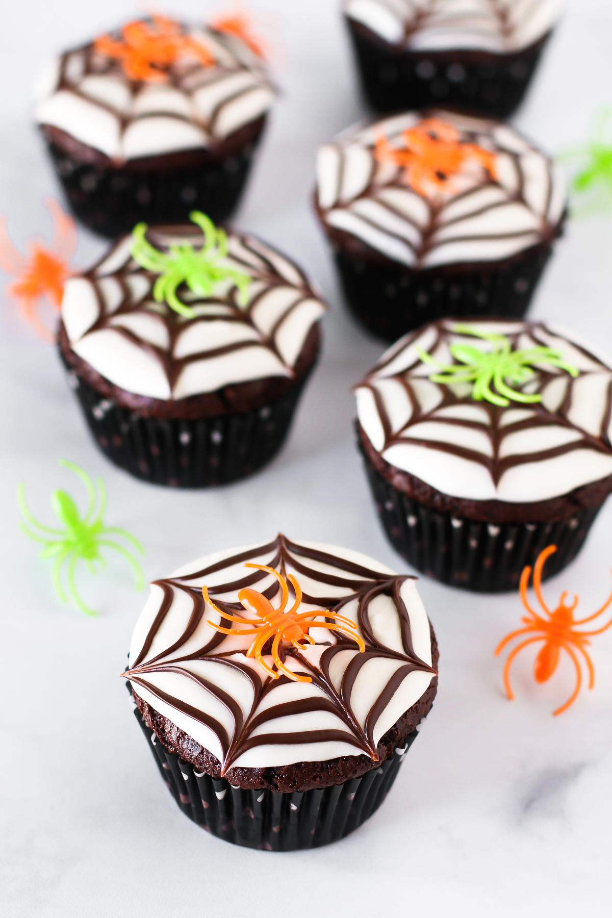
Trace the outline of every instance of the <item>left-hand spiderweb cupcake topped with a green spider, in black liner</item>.
{"type": "Polygon", "coordinates": [[[325,305],[250,235],[140,224],[67,280],[59,347],[95,442],[146,481],[250,475],[284,442],[325,305]]]}

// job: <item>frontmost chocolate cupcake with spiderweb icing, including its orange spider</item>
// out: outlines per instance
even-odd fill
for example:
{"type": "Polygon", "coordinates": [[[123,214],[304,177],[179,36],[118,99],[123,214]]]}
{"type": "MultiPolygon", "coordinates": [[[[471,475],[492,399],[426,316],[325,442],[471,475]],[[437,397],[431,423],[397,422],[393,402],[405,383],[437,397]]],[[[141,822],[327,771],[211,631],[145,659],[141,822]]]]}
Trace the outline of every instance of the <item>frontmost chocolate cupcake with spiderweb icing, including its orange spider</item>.
{"type": "Polygon", "coordinates": [[[156,580],[125,676],[185,815],[234,845],[293,851],[381,805],[437,665],[414,577],[279,535],[156,580]]]}

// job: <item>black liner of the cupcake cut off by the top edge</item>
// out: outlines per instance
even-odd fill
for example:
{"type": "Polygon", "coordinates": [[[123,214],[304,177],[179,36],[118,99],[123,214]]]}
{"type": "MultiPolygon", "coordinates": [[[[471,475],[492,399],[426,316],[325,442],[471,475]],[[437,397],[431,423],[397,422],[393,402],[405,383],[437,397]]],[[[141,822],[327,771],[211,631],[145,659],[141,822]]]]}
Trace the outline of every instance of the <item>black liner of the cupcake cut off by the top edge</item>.
{"type": "Polygon", "coordinates": [[[517,109],[550,38],[512,54],[398,50],[349,20],[363,92],[379,112],[459,109],[506,120],[517,109]]]}

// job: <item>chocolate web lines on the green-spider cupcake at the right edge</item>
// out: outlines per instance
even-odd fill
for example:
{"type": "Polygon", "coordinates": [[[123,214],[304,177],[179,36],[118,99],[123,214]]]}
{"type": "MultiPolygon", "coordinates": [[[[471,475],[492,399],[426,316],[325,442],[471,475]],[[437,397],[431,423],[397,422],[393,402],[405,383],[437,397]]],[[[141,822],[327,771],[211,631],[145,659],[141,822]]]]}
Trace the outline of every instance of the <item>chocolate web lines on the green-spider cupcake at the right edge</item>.
{"type": "MultiPolygon", "coordinates": [[[[482,320],[479,321],[479,325],[482,325],[482,320]]],[[[492,326],[495,326],[495,322],[491,323],[492,326]]],[[[439,322],[432,323],[430,326],[436,331],[435,340],[431,346],[427,349],[430,355],[434,355],[440,344],[448,344],[452,339],[458,337],[456,332],[452,331],[453,324],[448,320],[440,320],[439,322]]],[[[514,333],[507,334],[506,337],[511,342],[513,349],[518,348],[518,340],[521,336],[529,335],[529,338],[538,346],[547,346],[548,341],[542,336],[542,333],[548,333],[555,337],[562,337],[557,332],[548,329],[543,322],[523,322],[520,324],[518,330],[514,333]]],[[[564,373],[562,370],[554,370],[551,372],[546,372],[544,370],[536,369],[535,372],[535,383],[534,380],[525,383],[522,387],[518,386],[518,391],[521,388],[528,391],[530,394],[539,393],[541,394],[548,386],[552,380],[562,377],[566,381],[566,391],[562,399],[562,404],[556,411],[551,411],[550,409],[545,408],[542,402],[532,402],[529,404],[523,404],[517,401],[511,401],[506,408],[497,407],[492,405],[487,401],[475,402],[471,395],[461,397],[456,394],[456,391],[453,391],[453,387],[447,386],[440,383],[431,383],[432,386],[438,386],[440,389],[440,402],[436,405],[434,409],[424,411],[420,409],[418,404],[417,397],[415,395],[412,384],[414,381],[423,381],[427,379],[427,376],[423,376],[422,373],[415,375],[417,369],[422,369],[422,362],[419,357],[415,357],[410,366],[406,367],[404,371],[396,375],[384,375],[384,367],[391,364],[395,360],[398,353],[401,353],[407,347],[409,347],[413,341],[417,341],[423,335],[423,329],[419,329],[412,334],[406,336],[406,338],[401,342],[401,348],[395,347],[393,352],[390,353],[384,360],[377,366],[374,367],[372,373],[368,375],[359,386],[356,388],[366,388],[369,389],[374,397],[376,409],[380,417],[381,423],[384,430],[384,446],[381,450],[378,450],[378,453],[384,454],[391,446],[398,444],[410,444],[415,446],[420,446],[429,450],[437,450],[440,453],[450,453],[451,455],[457,456],[462,459],[467,459],[470,462],[477,463],[478,465],[483,465],[484,468],[491,475],[495,486],[499,484],[502,476],[510,468],[514,468],[517,465],[525,465],[533,462],[542,462],[546,459],[552,459],[556,456],[561,456],[566,453],[573,453],[575,450],[584,450],[590,449],[595,451],[595,453],[603,453],[604,455],[612,455],[612,443],[610,442],[608,425],[610,422],[610,413],[612,406],[612,371],[606,364],[602,364],[593,354],[586,351],[580,345],[574,343],[573,341],[568,341],[572,346],[582,353],[585,357],[593,362],[597,369],[590,371],[591,373],[598,372],[604,373],[608,376],[608,383],[606,386],[606,399],[603,406],[601,426],[596,435],[585,431],[578,424],[574,423],[569,419],[568,414],[572,408],[572,397],[573,389],[576,386],[576,383],[584,377],[584,375],[589,375],[589,371],[581,371],[580,374],[573,379],[570,375],[564,373]],[[376,387],[377,380],[383,379],[394,379],[397,382],[400,382],[402,386],[410,393],[410,403],[412,405],[412,415],[406,424],[401,428],[401,430],[393,432],[392,423],[387,412],[387,409],[384,404],[384,397],[381,395],[381,392],[376,387]],[[440,416],[440,411],[445,408],[457,405],[477,405],[479,409],[484,410],[487,415],[486,422],[474,421],[474,420],[463,420],[458,418],[447,418],[440,416]],[[514,423],[504,423],[504,419],[509,411],[527,410],[531,412],[531,417],[526,418],[525,420],[519,420],[514,423]],[[460,446],[457,443],[451,442],[449,434],[443,429],[440,431],[440,440],[424,440],[418,438],[418,436],[411,435],[412,428],[417,424],[422,424],[424,422],[428,423],[439,423],[443,424],[445,427],[457,427],[462,429],[469,429],[473,431],[479,431],[484,434],[484,436],[491,443],[491,455],[486,455],[485,453],[480,453],[477,450],[469,449],[464,446],[460,446]],[[530,431],[537,430],[543,427],[562,427],[568,431],[574,431],[576,433],[576,439],[573,442],[563,443],[560,446],[552,447],[551,449],[542,449],[534,450],[528,453],[517,453],[514,455],[506,455],[502,457],[504,442],[506,437],[517,431],[530,431]]],[[[426,350],[426,349],[424,349],[426,350]]],[[[435,373],[435,370],[431,370],[432,374],[435,373]]]]}

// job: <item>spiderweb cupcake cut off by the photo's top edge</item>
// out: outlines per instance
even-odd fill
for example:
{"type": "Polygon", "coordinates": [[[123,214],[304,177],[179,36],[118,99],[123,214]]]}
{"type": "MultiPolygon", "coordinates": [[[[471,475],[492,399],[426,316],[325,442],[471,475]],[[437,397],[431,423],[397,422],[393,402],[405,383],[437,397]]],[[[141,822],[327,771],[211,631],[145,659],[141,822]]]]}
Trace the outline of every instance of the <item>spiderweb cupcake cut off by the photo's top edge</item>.
{"type": "Polygon", "coordinates": [[[444,105],[508,118],[558,17],[557,0],[344,0],[377,111],[444,105]]]}

